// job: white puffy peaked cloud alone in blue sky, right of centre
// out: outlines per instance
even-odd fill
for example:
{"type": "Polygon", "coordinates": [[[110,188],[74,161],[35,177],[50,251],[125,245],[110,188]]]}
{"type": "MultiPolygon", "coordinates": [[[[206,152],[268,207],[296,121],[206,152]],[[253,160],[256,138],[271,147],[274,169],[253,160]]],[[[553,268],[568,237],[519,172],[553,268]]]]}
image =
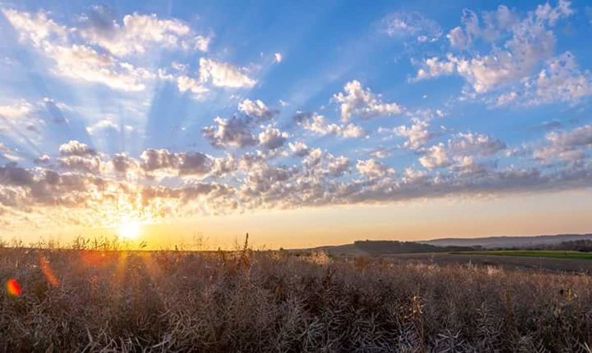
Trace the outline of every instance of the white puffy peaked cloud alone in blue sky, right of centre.
{"type": "Polygon", "coordinates": [[[345,94],[339,92],[332,98],[333,102],[341,105],[343,122],[350,121],[352,116],[370,119],[375,116],[398,115],[403,112],[403,108],[397,103],[383,103],[380,96],[369,89],[364,89],[357,80],[346,83],[343,90],[345,94]]]}

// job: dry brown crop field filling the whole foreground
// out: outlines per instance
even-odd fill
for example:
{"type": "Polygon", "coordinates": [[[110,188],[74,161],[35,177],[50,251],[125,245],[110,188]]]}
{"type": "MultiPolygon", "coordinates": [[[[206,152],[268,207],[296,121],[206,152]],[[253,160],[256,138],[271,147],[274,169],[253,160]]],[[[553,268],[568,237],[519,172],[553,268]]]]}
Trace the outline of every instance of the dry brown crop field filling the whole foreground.
{"type": "Polygon", "coordinates": [[[20,286],[2,291],[0,351],[533,352],[592,344],[589,276],[246,248],[0,252],[0,280],[20,286]]]}

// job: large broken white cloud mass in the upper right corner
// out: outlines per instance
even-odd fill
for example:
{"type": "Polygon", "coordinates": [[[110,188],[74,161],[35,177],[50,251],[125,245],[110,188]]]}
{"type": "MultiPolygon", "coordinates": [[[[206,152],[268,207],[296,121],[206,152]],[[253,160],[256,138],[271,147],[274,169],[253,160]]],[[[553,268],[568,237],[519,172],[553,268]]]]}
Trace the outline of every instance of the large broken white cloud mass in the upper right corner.
{"type": "MultiPolygon", "coordinates": [[[[477,14],[465,9],[462,17],[464,26],[453,28],[447,37],[451,48],[474,54],[464,57],[448,53],[444,58],[436,56],[424,59],[412,81],[456,74],[463,77],[472,89],[472,93],[465,92],[465,98],[506,90],[497,94],[496,105],[523,101],[519,99],[517,91],[524,90],[525,80],[530,80],[537,67],[554,56],[556,37],[552,27],[559,20],[574,13],[570,6],[570,2],[564,0],[560,0],[556,7],[551,7],[548,3],[539,5],[535,11],[528,12],[523,18],[507,7],[500,6],[497,11],[482,14],[484,25],[481,25],[477,14]],[[487,54],[479,54],[477,50],[471,49],[477,38],[483,38],[490,46],[487,54]]],[[[565,69],[561,69],[559,74],[559,67],[554,65],[555,62],[556,60],[548,61],[549,70],[553,70],[552,66],[555,67],[553,79],[547,79],[546,71],[543,70],[539,73],[542,82],[538,86],[549,87],[557,81],[563,83],[564,86],[560,88],[562,94],[558,95],[558,100],[574,101],[590,94],[587,86],[578,89],[576,85],[572,85],[578,80],[589,82],[590,77],[574,70],[567,73],[565,69]]],[[[572,63],[567,66],[570,66],[570,69],[574,67],[572,63]]],[[[525,93],[527,94],[529,93],[525,93]]],[[[539,97],[550,98],[552,92],[542,92],[539,89],[537,94],[539,97]]],[[[530,100],[530,103],[540,102],[545,102],[545,99],[530,100]]]]}

